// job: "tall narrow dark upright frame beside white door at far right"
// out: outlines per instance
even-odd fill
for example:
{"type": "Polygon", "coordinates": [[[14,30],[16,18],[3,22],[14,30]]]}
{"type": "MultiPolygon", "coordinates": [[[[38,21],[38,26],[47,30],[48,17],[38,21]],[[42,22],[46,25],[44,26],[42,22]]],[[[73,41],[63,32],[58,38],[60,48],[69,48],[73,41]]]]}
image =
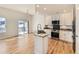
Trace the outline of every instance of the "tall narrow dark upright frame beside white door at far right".
{"type": "Polygon", "coordinates": [[[72,28],[73,28],[73,51],[76,52],[76,5],[73,4],[73,22],[72,22],[72,28]]]}

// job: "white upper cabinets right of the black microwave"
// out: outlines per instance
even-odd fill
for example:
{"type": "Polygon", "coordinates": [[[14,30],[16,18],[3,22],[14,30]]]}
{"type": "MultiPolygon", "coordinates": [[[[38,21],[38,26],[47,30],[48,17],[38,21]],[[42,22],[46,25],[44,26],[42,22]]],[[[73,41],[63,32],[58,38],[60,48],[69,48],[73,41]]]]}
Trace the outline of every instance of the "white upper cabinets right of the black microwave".
{"type": "Polygon", "coordinates": [[[60,14],[60,25],[72,25],[72,12],[60,14]]]}

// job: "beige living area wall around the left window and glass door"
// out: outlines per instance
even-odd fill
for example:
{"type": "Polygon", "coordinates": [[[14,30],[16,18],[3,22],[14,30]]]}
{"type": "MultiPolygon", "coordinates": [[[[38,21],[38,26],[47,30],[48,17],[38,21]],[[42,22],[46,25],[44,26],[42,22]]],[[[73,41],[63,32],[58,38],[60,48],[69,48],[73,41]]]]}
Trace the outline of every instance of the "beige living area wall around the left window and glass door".
{"type": "Polygon", "coordinates": [[[0,33],[0,39],[16,36],[18,34],[18,20],[23,19],[24,21],[27,21],[31,19],[31,16],[27,14],[6,8],[0,8],[0,16],[5,17],[7,23],[6,32],[0,33]]]}

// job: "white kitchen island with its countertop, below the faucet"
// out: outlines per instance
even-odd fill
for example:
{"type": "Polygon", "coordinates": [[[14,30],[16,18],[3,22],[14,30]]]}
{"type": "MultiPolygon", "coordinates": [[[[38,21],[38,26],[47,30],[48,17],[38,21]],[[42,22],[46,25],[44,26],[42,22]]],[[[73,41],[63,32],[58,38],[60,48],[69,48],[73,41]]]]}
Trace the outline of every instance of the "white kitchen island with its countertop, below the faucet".
{"type": "Polygon", "coordinates": [[[34,34],[34,53],[46,54],[48,50],[48,34],[34,34]]]}

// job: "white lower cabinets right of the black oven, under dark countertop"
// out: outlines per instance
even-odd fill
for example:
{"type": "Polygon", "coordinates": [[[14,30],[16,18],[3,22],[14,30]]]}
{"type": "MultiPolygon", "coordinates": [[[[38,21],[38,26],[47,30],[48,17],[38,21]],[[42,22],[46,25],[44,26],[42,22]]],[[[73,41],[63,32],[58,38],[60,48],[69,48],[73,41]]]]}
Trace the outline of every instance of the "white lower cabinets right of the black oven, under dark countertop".
{"type": "Polygon", "coordinates": [[[68,41],[68,42],[73,42],[72,38],[72,31],[60,31],[60,40],[68,41]]]}

